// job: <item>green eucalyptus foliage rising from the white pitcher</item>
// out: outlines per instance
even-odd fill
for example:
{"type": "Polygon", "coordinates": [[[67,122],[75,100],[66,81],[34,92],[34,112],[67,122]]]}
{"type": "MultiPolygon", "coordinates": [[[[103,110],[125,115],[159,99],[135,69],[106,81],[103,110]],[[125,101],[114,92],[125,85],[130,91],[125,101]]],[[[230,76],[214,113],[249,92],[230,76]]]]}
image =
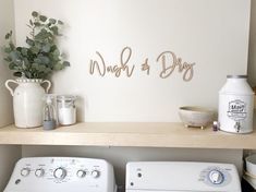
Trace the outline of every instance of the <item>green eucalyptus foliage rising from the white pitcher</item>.
{"type": "Polygon", "coordinates": [[[31,28],[26,37],[27,47],[16,47],[12,41],[12,32],[5,35],[9,40],[4,47],[10,70],[14,76],[25,75],[27,79],[46,79],[53,71],[59,71],[70,65],[64,61],[57,46],[57,37],[63,22],[48,19],[36,11],[32,12],[32,20],[27,26],[31,28]]]}

